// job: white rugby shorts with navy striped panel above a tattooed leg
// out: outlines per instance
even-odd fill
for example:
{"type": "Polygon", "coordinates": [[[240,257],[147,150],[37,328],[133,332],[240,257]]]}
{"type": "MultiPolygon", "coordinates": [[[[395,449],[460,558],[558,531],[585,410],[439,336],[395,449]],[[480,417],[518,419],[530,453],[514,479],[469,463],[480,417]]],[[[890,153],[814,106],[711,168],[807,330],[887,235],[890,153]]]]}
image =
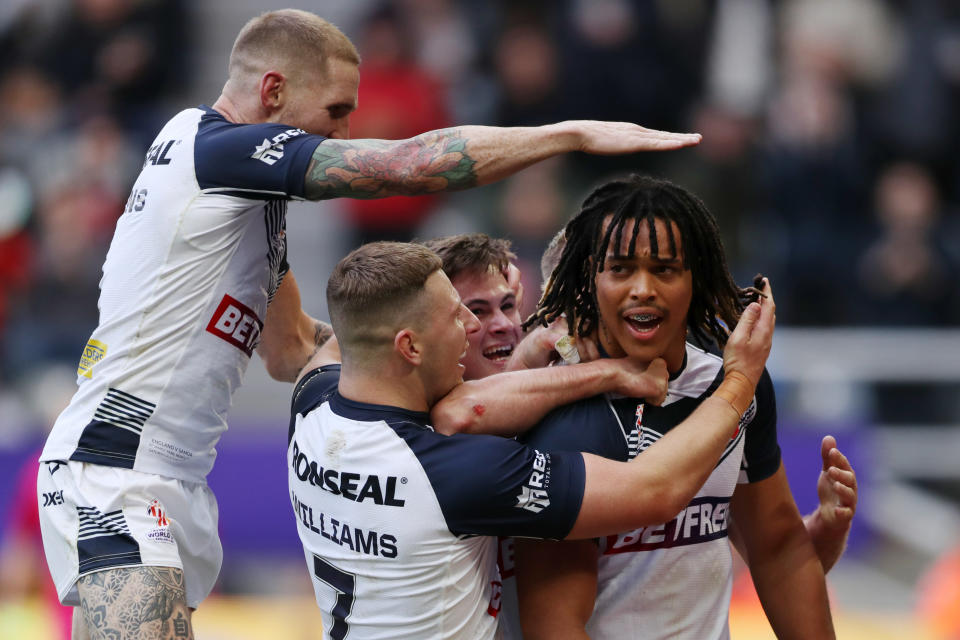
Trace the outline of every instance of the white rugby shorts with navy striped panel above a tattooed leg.
{"type": "Polygon", "coordinates": [[[41,462],[37,500],[47,566],[63,604],[80,604],[81,576],[120,567],[182,569],[192,608],[213,589],[223,549],[217,501],[206,483],[41,462]]]}

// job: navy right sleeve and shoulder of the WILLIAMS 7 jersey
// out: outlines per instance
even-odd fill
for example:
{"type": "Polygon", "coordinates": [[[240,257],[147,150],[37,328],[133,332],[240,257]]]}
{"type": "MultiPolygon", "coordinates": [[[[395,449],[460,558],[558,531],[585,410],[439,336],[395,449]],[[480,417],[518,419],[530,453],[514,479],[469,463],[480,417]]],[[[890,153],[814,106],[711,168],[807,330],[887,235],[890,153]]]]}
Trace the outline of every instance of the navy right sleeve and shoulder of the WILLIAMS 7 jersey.
{"type": "Polygon", "coordinates": [[[559,540],[576,522],[585,471],[579,453],[541,453],[497,436],[445,436],[389,421],[426,472],[454,535],[559,540]]]}

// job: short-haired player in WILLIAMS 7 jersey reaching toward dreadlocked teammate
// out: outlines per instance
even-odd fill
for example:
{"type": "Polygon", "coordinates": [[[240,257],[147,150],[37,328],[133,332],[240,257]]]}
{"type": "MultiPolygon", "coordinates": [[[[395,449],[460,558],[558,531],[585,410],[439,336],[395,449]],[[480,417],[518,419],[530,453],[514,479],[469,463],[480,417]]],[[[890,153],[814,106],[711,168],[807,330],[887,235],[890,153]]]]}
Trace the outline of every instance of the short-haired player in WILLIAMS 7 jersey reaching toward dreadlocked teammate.
{"type": "Polygon", "coordinates": [[[287,452],[324,637],[495,638],[494,536],[590,539],[678,513],[763,374],[775,310],[769,285],[764,293],[727,340],[727,375],[712,396],[642,464],[616,462],[435,432],[429,411],[462,384],[479,323],[429,249],[373,243],[350,253],[327,286],[339,353],[325,345],[302,374],[287,452]]]}

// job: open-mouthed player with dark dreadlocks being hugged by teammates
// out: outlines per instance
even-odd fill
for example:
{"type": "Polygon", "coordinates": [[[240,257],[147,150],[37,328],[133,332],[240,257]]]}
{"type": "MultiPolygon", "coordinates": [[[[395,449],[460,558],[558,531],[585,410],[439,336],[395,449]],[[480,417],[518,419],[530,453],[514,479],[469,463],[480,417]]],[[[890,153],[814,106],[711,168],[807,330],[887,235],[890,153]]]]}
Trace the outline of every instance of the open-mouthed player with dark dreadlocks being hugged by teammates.
{"type": "MultiPolygon", "coordinates": [[[[742,322],[744,291],[703,203],[664,180],[599,187],[565,237],[531,321],[565,314],[570,331],[595,335],[605,354],[663,358],[670,388],[662,407],[610,396],[562,407],[524,440],[642,462],[729,376],[706,345],[724,345],[727,327],[742,322]]],[[[823,577],[832,561],[818,558],[786,482],[766,372],[742,416],[697,495],[661,522],[599,541],[517,541],[525,638],[726,638],[728,537],[777,637],[834,637],[823,577]]]]}

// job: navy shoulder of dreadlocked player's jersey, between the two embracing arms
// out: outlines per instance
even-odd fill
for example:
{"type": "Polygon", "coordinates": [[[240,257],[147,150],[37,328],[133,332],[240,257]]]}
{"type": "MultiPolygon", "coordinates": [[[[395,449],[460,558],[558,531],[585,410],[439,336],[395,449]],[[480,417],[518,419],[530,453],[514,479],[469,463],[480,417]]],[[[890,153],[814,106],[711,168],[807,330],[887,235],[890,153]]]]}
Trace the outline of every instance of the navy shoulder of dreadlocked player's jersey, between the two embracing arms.
{"type": "Polygon", "coordinates": [[[628,459],[623,431],[603,396],[554,409],[521,439],[541,451],[583,451],[611,460],[628,459]]]}

